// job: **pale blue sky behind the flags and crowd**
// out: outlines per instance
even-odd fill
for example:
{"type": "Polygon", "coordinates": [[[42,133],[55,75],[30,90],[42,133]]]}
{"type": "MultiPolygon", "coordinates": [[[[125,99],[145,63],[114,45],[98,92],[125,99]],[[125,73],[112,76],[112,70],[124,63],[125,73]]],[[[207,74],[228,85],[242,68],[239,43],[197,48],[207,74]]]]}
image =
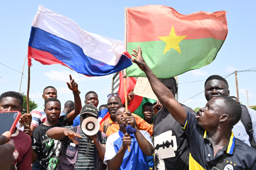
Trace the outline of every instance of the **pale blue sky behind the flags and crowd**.
{"type": "MultiPolygon", "coordinates": [[[[255,59],[255,1],[1,1],[0,18],[0,63],[22,72],[24,59],[27,55],[28,39],[31,22],[37,13],[39,5],[73,19],[82,29],[105,37],[124,41],[124,8],[144,6],[149,4],[170,6],[181,14],[191,14],[198,11],[216,12],[228,11],[228,36],[216,59],[209,65],[195,71],[178,76],[179,83],[203,80],[210,75],[228,75],[234,70],[243,71],[256,67],[255,59]]],[[[111,93],[111,77],[86,77],[75,73],[62,65],[42,65],[32,60],[30,97],[43,104],[42,91],[46,86],[54,86],[60,92],[58,98],[62,106],[67,100],[73,100],[73,94],[68,90],[66,81],[71,73],[78,82],[81,100],[85,100],[88,91],[99,95],[100,105],[107,102],[106,95],[111,93]],[[39,98],[37,97],[39,96],[39,98]]],[[[256,69],[255,69],[256,70],[256,69]]],[[[27,61],[24,68],[27,78],[27,61]]],[[[249,104],[256,105],[256,72],[238,74],[240,101],[247,105],[245,89],[249,92],[249,104]]],[[[0,64],[0,94],[6,91],[18,91],[21,73],[15,72],[0,64]]],[[[236,96],[235,77],[227,78],[230,95],[236,96]]],[[[21,92],[26,93],[27,82],[22,81],[21,92]]],[[[204,81],[179,84],[179,102],[204,90],[204,81]]],[[[191,108],[204,107],[204,93],[185,102],[191,108]]]]}

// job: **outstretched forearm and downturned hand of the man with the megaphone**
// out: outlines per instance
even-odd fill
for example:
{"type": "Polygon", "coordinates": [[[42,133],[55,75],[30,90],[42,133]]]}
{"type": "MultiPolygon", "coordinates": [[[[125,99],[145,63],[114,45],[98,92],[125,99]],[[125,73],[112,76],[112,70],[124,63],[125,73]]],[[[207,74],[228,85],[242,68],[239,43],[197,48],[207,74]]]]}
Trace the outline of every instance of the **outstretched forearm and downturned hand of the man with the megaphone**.
{"type": "Polygon", "coordinates": [[[81,135],[78,135],[72,130],[65,127],[53,127],[46,132],[46,135],[54,140],[64,140],[67,136],[69,139],[73,140],[75,144],[78,144],[78,142],[75,140],[74,137],[82,137],[81,135]]]}

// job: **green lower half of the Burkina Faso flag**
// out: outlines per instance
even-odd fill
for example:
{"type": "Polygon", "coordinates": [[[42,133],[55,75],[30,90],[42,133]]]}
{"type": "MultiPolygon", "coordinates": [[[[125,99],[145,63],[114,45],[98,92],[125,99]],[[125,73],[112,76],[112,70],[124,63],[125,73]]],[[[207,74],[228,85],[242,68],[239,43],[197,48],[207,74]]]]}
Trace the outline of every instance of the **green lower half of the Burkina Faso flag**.
{"type": "MultiPolygon", "coordinates": [[[[181,53],[172,48],[165,54],[166,43],[163,41],[128,43],[128,52],[133,53],[132,49],[140,46],[144,60],[156,77],[170,78],[210,64],[223,42],[214,38],[182,40],[179,43],[181,53]]],[[[126,73],[128,77],[146,77],[135,63],[126,69],[126,73]]]]}

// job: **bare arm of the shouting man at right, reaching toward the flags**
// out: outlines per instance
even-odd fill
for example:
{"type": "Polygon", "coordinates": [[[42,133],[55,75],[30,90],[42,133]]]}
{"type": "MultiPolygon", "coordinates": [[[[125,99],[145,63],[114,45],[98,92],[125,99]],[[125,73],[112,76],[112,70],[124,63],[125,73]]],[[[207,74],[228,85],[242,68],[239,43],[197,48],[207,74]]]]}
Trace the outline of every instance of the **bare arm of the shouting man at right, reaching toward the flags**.
{"type": "Polygon", "coordinates": [[[140,46],[138,46],[138,50],[139,51],[133,49],[133,52],[135,52],[136,54],[132,53],[131,55],[136,57],[137,59],[132,59],[132,61],[136,63],[143,72],[145,72],[149,80],[150,86],[159,101],[168,109],[172,117],[179,124],[184,125],[187,119],[187,112],[175,99],[175,96],[171,93],[171,91],[157,79],[149,66],[146,64],[142,57],[142,51],[140,46]]]}

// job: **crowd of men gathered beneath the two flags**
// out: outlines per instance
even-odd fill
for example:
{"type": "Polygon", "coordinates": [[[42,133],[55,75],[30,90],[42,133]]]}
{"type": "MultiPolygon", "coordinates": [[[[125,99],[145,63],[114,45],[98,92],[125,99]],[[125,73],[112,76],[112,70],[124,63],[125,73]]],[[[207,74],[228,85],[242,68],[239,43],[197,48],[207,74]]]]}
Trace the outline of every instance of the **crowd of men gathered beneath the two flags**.
{"type": "MultiPolygon", "coordinates": [[[[61,111],[57,90],[48,86],[43,89],[44,104],[23,114],[18,123],[29,124],[0,136],[0,169],[256,169],[256,111],[229,96],[226,79],[207,78],[207,104],[195,113],[175,99],[176,80],[157,79],[140,47],[133,51],[132,61],[145,72],[159,100],[143,105],[143,118],[127,112],[118,93],[109,94],[107,104],[98,110],[98,95],[89,91],[82,106],[78,84],[70,75],[67,86],[74,102],[67,101],[61,111]],[[92,136],[81,130],[89,117],[100,122],[99,132],[92,136]]],[[[128,94],[127,103],[134,95],[128,94]]],[[[17,92],[0,96],[0,111],[22,112],[22,104],[23,96],[17,92]]]]}

